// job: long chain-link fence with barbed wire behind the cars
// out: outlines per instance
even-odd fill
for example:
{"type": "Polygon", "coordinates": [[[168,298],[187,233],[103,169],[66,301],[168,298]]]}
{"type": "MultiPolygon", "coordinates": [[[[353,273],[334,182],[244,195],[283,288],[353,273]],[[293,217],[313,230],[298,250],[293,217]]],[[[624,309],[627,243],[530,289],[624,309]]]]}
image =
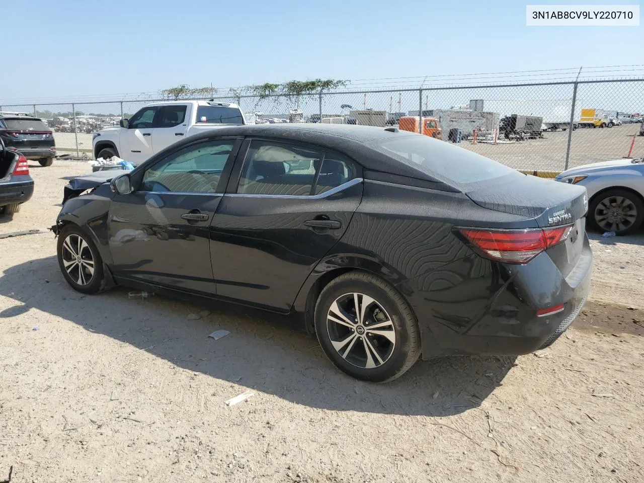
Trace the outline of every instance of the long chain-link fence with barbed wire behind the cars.
{"type": "MultiPolygon", "coordinates": [[[[199,98],[208,99],[208,98],[199,98]]],[[[639,136],[644,79],[536,82],[343,90],[298,97],[233,95],[247,121],[322,122],[418,130],[516,169],[560,172],[567,167],[644,156],[639,136]]],[[[93,158],[93,133],[118,126],[150,99],[70,104],[3,105],[45,119],[57,150],[93,158]]],[[[185,99],[189,100],[189,99],[185,99]]]]}

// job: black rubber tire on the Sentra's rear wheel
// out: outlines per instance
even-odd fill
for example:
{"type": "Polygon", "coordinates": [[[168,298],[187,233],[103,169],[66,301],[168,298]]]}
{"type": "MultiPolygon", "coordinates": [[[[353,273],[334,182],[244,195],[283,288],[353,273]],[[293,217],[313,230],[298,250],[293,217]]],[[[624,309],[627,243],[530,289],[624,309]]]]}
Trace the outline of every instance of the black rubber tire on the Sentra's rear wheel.
{"type": "MultiPolygon", "coordinates": [[[[343,314],[345,317],[355,317],[357,320],[355,304],[353,312],[343,309],[343,314]]],[[[350,321],[345,317],[343,317],[345,321],[350,321]]],[[[339,319],[339,317],[337,318],[339,319]]],[[[328,359],[345,374],[363,381],[372,383],[393,381],[412,367],[421,355],[421,337],[412,308],[403,296],[386,281],[366,272],[347,272],[332,280],[322,290],[316,303],[315,327],[317,339],[328,359]],[[346,297],[348,303],[352,303],[355,293],[363,294],[363,296],[357,296],[359,301],[363,301],[365,296],[373,299],[373,302],[366,307],[364,326],[355,323],[351,326],[355,327],[354,330],[348,328],[349,326],[345,322],[337,324],[328,319],[329,310],[334,303],[337,303],[337,299],[346,297]],[[374,305],[378,307],[374,308],[374,305]],[[387,321],[391,323],[386,324],[387,321]],[[379,332],[381,334],[386,332],[388,335],[371,334],[368,323],[371,325],[384,323],[386,330],[383,327],[383,330],[379,332]],[[337,328],[341,329],[343,334],[338,334],[337,328]],[[352,339],[336,350],[331,333],[334,334],[336,340],[339,339],[336,341],[336,345],[348,340],[345,337],[352,337],[355,341],[352,339]],[[364,341],[361,336],[364,336],[364,341]],[[393,337],[394,340],[391,341],[390,337],[393,337]],[[357,344],[354,345],[356,342],[357,344]],[[369,350],[368,346],[373,351],[369,350]],[[375,348],[379,348],[379,350],[376,351],[375,348]],[[343,355],[339,352],[341,350],[345,352],[343,355]],[[383,354],[386,357],[384,359],[383,354]],[[368,368],[370,359],[372,365],[377,364],[368,368]]]]}

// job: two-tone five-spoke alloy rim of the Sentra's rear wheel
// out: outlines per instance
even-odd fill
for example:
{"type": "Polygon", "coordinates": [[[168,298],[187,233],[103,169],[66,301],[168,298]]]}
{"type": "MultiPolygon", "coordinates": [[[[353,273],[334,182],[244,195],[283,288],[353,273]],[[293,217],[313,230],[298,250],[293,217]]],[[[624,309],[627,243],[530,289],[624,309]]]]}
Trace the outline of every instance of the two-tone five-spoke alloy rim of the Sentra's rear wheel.
{"type": "Polygon", "coordinates": [[[373,369],[386,363],[396,345],[391,317],[374,298],[357,292],[339,296],[327,313],[331,344],[348,363],[373,369]]]}

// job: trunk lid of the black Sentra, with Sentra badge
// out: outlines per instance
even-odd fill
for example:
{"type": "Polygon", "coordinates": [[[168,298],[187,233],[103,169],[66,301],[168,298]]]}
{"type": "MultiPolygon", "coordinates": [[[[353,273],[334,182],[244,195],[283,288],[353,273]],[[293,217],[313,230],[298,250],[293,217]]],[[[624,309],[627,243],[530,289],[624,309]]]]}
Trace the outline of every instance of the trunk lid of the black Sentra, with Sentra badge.
{"type": "Polygon", "coordinates": [[[583,186],[528,175],[507,175],[478,183],[467,196],[477,205],[535,220],[541,228],[571,225],[564,242],[546,253],[564,276],[577,265],[585,238],[588,198],[583,186]]]}

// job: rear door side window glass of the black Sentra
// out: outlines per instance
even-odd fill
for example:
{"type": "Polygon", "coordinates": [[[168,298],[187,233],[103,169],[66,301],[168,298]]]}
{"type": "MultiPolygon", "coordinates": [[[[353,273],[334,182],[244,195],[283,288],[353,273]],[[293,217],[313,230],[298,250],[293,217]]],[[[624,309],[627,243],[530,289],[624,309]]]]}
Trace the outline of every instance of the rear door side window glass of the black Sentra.
{"type": "Polygon", "coordinates": [[[354,165],[342,156],[308,147],[253,140],[237,193],[308,196],[325,193],[354,175],[354,165]]]}

